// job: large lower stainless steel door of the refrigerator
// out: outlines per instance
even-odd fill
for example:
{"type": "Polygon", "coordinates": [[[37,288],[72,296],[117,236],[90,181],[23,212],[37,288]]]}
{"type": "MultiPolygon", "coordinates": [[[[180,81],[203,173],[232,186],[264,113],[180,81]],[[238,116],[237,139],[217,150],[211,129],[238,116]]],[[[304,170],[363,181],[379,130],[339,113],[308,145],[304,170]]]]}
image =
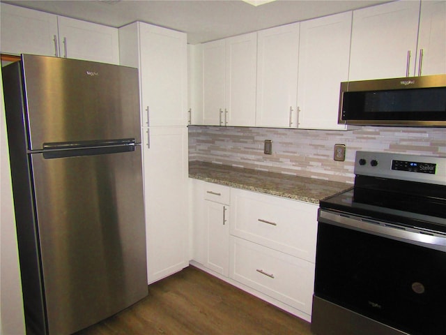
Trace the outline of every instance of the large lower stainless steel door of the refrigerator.
{"type": "Polygon", "coordinates": [[[31,154],[49,334],[72,334],[145,297],[141,147],[31,154]]]}

